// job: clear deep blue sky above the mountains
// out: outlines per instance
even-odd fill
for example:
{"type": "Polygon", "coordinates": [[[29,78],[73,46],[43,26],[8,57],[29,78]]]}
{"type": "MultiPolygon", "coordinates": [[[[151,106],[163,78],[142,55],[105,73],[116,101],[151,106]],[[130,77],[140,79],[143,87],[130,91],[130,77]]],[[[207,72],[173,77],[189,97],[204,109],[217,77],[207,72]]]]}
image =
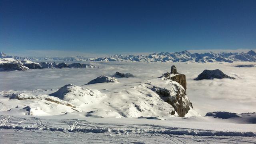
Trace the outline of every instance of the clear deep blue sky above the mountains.
{"type": "Polygon", "coordinates": [[[256,0],[0,0],[0,51],[256,48],[256,0]]]}

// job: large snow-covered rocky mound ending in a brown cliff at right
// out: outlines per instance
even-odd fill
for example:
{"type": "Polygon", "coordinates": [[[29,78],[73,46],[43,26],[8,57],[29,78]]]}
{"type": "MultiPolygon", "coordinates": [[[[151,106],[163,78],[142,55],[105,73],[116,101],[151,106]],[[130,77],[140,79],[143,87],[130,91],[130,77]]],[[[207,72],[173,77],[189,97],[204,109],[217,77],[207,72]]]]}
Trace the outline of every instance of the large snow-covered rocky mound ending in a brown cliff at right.
{"type": "Polygon", "coordinates": [[[40,116],[78,112],[84,116],[114,118],[198,115],[192,109],[186,90],[178,82],[152,79],[129,85],[116,85],[119,86],[112,90],[98,91],[86,88],[88,85],[82,88],[67,84],[49,95],[9,94],[1,97],[7,108],[0,114],[15,112],[20,115],[40,116]],[[29,106],[30,110],[24,110],[26,106],[29,106]]]}

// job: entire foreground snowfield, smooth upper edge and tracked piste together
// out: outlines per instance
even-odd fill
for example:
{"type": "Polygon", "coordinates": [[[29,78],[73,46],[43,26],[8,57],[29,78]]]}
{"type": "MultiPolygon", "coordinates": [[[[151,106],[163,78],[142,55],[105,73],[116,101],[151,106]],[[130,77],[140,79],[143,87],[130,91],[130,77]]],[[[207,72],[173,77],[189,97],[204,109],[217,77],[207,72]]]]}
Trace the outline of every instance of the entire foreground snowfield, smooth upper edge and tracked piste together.
{"type": "Polygon", "coordinates": [[[12,143],[243,143],[256,142],[255,124],[232,124],[214,118],[84,118],[2,116],[0,142],[12,143]]]}

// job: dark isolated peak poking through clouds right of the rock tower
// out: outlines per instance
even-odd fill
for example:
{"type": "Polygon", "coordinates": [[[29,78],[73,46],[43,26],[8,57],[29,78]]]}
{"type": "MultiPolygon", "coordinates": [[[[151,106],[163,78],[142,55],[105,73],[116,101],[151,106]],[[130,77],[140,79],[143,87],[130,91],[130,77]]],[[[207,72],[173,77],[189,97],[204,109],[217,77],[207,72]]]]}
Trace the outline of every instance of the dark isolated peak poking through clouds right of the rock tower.
{"type": "Polygon", "coordinates": [[[212,80],[214,78],[222,79],[222,78],[230,78],[236,79],[234,77],[228,76],[224,74],[221,70],[204,70],[201,74],[198,75],[194,80],[212,80]]]}

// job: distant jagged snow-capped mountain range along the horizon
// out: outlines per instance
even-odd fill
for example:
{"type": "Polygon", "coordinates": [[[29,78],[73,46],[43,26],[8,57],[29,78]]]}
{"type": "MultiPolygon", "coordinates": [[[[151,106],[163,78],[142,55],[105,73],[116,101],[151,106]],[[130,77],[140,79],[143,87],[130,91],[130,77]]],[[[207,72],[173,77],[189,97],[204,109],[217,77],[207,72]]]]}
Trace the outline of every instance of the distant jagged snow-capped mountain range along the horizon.
{"type": "Polygon", "coordinates": [[[0,52],[0,58],[14,58],[17,60],[64,60],[64,61],[136,61],[136,62],[256,62],[256,52],[250,50],[247,53],[224,53],[219,54],[213,52],[207,52],[204,54],[194,53],[191,54],[187,50],[182,52],[160,52],[149,55],[114,55],[110,57],[102,58],[85,58],[82,56],[76,57],[53,57],[53,58],[33,58],[33,57],[20,57],[20,56],[8,56],[3,52],[0,52]]]}

